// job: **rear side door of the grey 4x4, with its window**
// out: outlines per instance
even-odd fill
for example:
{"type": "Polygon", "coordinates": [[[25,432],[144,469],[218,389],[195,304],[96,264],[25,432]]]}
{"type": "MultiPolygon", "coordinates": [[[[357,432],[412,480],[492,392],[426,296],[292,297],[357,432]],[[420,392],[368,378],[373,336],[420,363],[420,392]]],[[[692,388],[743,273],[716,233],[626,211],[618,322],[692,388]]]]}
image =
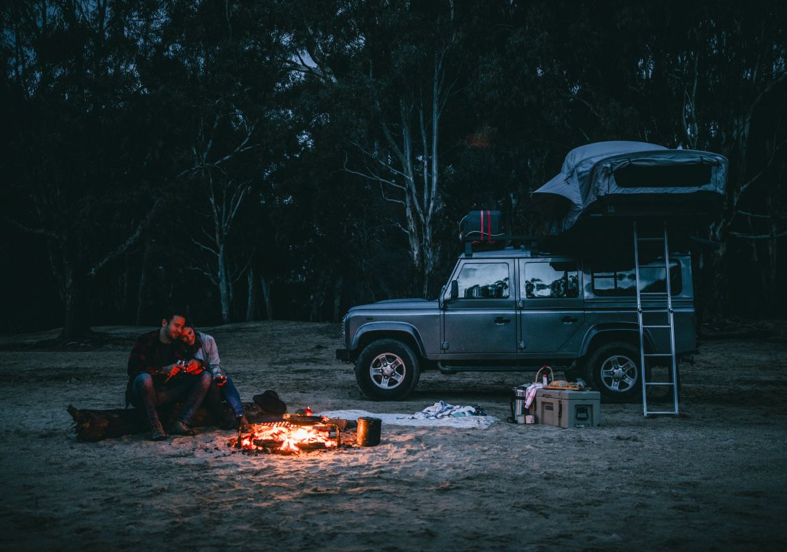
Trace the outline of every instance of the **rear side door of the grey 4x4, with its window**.
{"type": "Polygon", "coordinates": [[[563,353],[585,323],[582,273],[571,259],[519,259],[519,352],[563,353]]]}

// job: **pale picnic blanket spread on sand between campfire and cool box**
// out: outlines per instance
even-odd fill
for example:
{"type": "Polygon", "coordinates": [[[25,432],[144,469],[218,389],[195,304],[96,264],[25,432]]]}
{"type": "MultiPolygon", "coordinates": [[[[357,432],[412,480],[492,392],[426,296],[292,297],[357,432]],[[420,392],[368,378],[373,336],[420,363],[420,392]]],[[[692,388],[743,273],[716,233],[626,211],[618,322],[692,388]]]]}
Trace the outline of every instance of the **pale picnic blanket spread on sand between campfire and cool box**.
{"type": "Polygon", "coordinates": [[[377,414],[366,410],[327,410],[320,416],[356,420],[361,417],[380,418],[386,425],[410,425],[421,427],[486,428],[498,421],[487,416],[482,408],[457,407],[438,401],[415,414],[377,414]],[[481,415],[478,415],[481,414],[481,415]]]}

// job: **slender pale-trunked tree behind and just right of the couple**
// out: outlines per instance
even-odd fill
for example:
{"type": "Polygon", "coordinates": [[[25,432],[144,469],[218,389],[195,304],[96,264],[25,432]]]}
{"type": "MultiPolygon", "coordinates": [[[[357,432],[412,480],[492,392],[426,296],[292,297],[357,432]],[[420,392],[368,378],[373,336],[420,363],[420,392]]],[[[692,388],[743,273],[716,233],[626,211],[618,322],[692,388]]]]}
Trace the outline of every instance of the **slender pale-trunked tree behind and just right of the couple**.
{"type": "Polygon", "coordinates": [[[279,155],[281,110],[275,94],[284,50],[266,6],[257,2],[171,2],[159,55],[177,64],[169,94],[182,98],[183,214],[191,268],[216,287],[222,322],[233,316],[234,285],[253,250],[235,231],[242,205],[254,197],[266,167],[279,155]]]}

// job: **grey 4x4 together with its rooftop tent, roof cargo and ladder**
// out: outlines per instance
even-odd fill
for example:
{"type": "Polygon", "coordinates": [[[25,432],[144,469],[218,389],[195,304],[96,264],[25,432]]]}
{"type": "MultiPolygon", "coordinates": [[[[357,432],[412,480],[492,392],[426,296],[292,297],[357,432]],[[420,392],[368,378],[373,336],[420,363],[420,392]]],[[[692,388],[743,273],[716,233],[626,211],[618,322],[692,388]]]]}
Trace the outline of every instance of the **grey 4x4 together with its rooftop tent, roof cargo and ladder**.
{"type": "Polygon", "coordinates": [[[572,149],[530,195],[554,239],[505,247],[499,212],[471,212],[465,243],[493,250],[467,248],[437,300],[351,308],[336,357],[355,363],[374,399],[408,396],[422,370],[549,364],[611,400],[670,386],[677,414],[678,359],[695,349],[687,244],[719,212],[727,165],[718,153],[645,142],[572,149]],[[655,382],[665,363],[667,381],[655,382]]]}

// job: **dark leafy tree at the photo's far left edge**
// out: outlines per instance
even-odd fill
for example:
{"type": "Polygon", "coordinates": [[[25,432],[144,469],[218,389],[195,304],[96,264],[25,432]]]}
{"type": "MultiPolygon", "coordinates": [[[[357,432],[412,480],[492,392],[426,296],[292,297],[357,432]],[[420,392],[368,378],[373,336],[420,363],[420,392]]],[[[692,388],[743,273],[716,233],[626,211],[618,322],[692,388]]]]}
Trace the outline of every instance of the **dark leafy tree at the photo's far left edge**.
{"type": "Polygon", "coordinates": [[[6,226],[42,238],[65,313],[61,337],[89,330],[91,282],[133,247],[166,193],[149,151],[135,61],[150,41],[146,2],[9,2],[0,40],[10,116],[6,226]],[[129,224],[131,221],[131,224],[129,224]]]}

